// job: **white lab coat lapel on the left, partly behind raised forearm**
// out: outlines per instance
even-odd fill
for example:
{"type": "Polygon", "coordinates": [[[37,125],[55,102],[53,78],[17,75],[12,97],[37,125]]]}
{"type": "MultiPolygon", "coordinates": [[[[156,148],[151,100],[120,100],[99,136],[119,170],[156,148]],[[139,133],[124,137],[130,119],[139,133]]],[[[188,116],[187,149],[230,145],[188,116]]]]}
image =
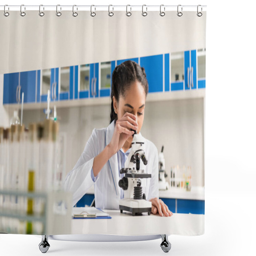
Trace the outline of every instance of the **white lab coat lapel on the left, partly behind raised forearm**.
{"type": "MultiPolygon", "coordinates": [[[[107,127],[106,145],[108,145],[110,143],[112,136],[114,134],[114,130],[115,130],[115,121],[112,121],[112,123],[109,124],[107,127]]],[[[115,183],[113,186],[113,189],[115,189],[115,194],[117,195],[117,197],[120,198],[120,190],[119,190],[119,186],[118,186],[119,170],[118,170],[118,162],[117,162],[117,153],[109,158],[109,164],[110,164],[110,175],[112,175],[114,183],[115,183]]]]}

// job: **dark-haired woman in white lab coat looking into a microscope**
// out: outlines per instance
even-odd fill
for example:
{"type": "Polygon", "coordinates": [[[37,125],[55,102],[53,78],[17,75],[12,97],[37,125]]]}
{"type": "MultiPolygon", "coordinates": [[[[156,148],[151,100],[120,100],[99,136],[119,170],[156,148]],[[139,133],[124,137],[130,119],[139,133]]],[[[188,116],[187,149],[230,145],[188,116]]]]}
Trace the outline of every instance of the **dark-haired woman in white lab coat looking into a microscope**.
{"type": "MultiPolygon", "coordinates": [[[[120,169],[131,150],[133,131],[140,133],[144,120],[148,81],[145,69],[135,61],[118,65],[112,74],[110,124],[93,129],[84,151],[73,170],[68,172],[64,188],[73,193],[75,205],[94,185],[95,207],[118,209],[124,191],[118,181],[124,176],[120,169]]],[[[153,142],[145,139],[148,164],[140,162],[141,169],[151,173],[151,178],[141,179],[143,193],[152,203],[152,213],[172,216],[167,205],[159,199],[158,153],[153,142]]]]}

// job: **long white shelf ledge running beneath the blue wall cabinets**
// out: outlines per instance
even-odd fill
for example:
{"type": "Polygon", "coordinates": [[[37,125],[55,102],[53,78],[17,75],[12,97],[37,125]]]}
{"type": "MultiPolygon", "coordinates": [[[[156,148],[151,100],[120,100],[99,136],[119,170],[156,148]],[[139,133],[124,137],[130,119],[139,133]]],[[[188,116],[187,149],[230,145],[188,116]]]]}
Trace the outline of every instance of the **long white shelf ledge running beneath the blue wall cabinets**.
{"type": "MultiPolygon", "coordinates": [[[[198,99],[205,97],[205,89],[174,91],[174,92],[151,92],[148,93],[146,102],[163,101],[163,100],[184,100],[198,99]]],[[[110,105],[110,97],[87,98],[76,100],[51,101],[50,108],[56,105],[57,108],[69,108],[78,106],[110,105]]],[[[5,108],[17,108],[18,104],[4,104],[5,108]]],[[[19,104],[21,108],[21,104],[19,104]]],[[[41,103],[24,103],[23,109],[44,109],[47,108],[47,102],[41,103]]]]}

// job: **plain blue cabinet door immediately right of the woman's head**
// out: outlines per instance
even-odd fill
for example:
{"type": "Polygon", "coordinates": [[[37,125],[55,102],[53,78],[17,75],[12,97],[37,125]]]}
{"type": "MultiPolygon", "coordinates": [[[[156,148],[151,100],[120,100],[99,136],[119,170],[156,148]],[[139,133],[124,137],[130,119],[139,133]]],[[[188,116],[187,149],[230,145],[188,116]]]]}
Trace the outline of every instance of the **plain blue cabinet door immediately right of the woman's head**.
{"type": "Polygon", "coordinates": [[[163,54],[140,58],[148,79],[148,92],[163,92],[163,58],[163,54]]]}

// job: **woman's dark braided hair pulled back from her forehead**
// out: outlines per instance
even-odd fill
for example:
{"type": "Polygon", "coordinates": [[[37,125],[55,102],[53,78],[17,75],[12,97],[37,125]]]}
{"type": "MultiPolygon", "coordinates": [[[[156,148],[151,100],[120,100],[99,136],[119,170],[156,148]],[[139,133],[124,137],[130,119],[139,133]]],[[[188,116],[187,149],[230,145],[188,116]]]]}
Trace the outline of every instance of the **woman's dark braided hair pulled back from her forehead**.
{"type": "Polygon", "coordinates": [[[135,80],[141,83],[147,96],[148,80],[145,68],[140,67],[140,65],[133,60],[126,60],[114,69],[112,73],[110,124],[113,120],[115,120],[115,122],[117,120],[117,114],[114,111],[113,96],[115,96],[117,102],[119,101],[120,95],[125,97],[126,90],[130,88],[135,80]]]}

